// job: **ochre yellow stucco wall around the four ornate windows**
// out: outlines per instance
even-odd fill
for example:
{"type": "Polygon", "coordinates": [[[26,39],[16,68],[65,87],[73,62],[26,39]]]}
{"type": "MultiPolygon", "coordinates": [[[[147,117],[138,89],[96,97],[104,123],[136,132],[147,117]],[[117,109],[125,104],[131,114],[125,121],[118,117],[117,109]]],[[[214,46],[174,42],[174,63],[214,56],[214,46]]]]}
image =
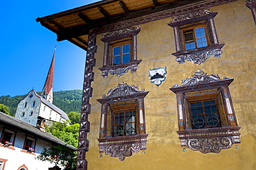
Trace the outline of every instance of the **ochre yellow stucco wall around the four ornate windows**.
{"type": "Polygon", "coordinates": [[[175,56],[172,56],[176,52],[174,32],[167,25],[172,19],[161,19],[140,25],[137,52],[138,60],[143,61],[138,65],[137,72],[127,72],[119,78],[113,75],[102,78],[98,67],[102,67],[104,43],[100,41],[100,35],[97,36],[93,96],[90,99],[92,107],[89,115],[89,151],[86,152],[88,169],[256,169],[256,27],[253,16],[250,9],[246,8],[245,1],[235,1],[210,10],[219,12],[214,17],[214,23],[219,43],[225,45],[221,58],[211,56],[201,65],[194,65],[189,61],[179,64],[175,61],[175,56]],[[158,67],[167,67],[166,80],[159,87],[150,83],[148,77],[148,70],[158,67]],[[190,78],[196,70],[219,74],[221,78],[228,76],[235,79],[229,88],[237,122],[241,126],[240,149],[235,149],[233,145],[220,153],[201,153],[190,149],[182,151],[176,134],[176,95],[169,88],[174,84],[181,85],[181,80],[190,78]],[[121,162],[118,158],[104,154],[103,158],[99,158],[101,105],[97,99],[122,82],[139,85],[140,89],[149,91],[145,97],[146,129],[149,136],[145,155],[140,151],[121,162]]]}

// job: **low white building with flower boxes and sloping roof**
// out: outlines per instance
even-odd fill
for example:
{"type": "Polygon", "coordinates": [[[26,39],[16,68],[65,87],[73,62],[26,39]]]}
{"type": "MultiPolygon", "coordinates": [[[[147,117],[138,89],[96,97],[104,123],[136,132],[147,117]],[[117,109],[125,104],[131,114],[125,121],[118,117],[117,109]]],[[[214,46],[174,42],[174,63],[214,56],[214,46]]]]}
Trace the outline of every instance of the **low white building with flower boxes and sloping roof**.
{"type": "Polygon", "coordinates": [[[57,144],[76,150],[48,132],[0,112],[0,170],[46,170],[54,167],[55,164],[35,160],[35,157],[43,147],[57,144]],[[7,147],[6,142],[12,142],[12,145],[7,147]],[[28,151],[28,148],[34,151],[28,151]]]}

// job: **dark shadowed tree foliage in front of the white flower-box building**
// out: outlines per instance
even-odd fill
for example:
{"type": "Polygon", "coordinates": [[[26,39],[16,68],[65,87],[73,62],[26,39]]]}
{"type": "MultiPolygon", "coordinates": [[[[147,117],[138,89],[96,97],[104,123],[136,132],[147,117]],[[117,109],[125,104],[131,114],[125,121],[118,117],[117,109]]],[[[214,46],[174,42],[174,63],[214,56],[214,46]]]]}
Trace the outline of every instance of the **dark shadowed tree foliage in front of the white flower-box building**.
{"type": "Polygon", "coordinates": [[[63,145],[56,145],[49,149],[44,147],[42,153],[36,159],[54,163],[55,166],[61,165],[66,170],[75,170],[76,155],[76,151],[63,145]]]}

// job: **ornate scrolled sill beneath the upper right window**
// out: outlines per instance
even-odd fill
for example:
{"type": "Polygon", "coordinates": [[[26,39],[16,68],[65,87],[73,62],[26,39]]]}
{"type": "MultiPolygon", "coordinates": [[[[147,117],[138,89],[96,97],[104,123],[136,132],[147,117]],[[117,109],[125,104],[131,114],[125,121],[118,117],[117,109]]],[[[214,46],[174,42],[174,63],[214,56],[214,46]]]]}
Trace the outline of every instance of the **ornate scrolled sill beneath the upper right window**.
{"type": "Polygon", "coordinates": [[[191,61],[194,64],[201,64],[206,61],[210,56],[214,56],[215,58],[219,58],[222,54],[221,48],[225,44],[214,44],[208,47],[201,47],[188,51],[179,51],[172,53],[172,55],[176,56],[176,61],[179,64],[185,63],[185,60],[191,61]]]}

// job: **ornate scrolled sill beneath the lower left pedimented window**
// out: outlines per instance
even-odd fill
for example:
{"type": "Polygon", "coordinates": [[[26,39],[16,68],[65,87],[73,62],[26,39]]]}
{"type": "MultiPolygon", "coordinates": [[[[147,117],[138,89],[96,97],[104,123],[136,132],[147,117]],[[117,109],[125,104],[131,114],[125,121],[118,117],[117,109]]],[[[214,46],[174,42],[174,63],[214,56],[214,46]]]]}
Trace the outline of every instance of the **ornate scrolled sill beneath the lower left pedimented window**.
{"type": "Polygon", "coordinates": [[[116,157],[120,161],[125,160],[125,157],[134,155],[138,151],[147,149],[148,134],[140,134],[134,136],[120,136],[115,138],[100,138],[100,153],[105,153],[111,157],[116,157]]]}

